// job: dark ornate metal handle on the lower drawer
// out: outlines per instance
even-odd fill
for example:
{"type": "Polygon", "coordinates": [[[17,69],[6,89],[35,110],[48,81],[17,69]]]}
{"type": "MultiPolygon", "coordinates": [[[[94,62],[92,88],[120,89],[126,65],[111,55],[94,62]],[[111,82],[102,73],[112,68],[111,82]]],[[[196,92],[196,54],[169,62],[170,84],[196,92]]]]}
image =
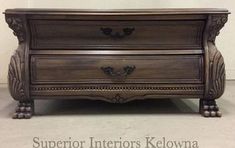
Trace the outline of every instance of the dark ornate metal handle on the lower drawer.
{"type": "Polygon", "coordinates": [[[101,69],[108,76],[120,78],[120,77],[126,77],[130,75],[135,70],[135,66],[134,65],[125,66],[123,67],[123,71],[117,71],[117,72],[114,72],[114,68],[110,66],[101,67],[101,69]]]}

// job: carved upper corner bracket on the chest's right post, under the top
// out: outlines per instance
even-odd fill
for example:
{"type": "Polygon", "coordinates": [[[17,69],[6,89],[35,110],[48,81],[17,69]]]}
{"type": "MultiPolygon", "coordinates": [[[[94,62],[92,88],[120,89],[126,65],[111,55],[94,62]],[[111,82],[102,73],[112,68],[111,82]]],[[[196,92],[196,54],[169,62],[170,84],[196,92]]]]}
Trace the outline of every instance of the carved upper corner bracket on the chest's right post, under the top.
{"type": "Polygon", "coordinates": [[[216,36],[219,35],[220,29],[223,28],[224,24],[228,21],[228,15],[210,15],[209,35],[208,41],[215,43],[216,36]]]}

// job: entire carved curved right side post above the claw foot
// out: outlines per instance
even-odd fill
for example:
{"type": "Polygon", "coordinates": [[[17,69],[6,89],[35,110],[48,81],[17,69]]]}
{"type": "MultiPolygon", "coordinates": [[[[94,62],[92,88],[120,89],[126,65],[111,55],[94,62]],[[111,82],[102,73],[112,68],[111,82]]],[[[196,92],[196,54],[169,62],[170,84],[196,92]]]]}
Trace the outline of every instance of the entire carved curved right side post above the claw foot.
{"type": "Polygon", "coordinates": [[[227,22],[227,14],[209,15],[206,28],[206,92],[205,98],[217,99],[224,93],[225,65],[224,60],[215,46],[216,36],[227,22]]]}

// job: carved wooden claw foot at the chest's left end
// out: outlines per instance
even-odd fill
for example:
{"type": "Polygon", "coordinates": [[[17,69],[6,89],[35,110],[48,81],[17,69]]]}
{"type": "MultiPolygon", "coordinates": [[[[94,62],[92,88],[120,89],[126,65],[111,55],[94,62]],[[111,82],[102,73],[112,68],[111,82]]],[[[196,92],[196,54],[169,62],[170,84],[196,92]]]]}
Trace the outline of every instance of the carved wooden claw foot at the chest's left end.
{"type": "Polygon", "coordinates": [[[16,107],[13,119],[30,119],[34,113],[33,101],[20,101],[16,107]]]}

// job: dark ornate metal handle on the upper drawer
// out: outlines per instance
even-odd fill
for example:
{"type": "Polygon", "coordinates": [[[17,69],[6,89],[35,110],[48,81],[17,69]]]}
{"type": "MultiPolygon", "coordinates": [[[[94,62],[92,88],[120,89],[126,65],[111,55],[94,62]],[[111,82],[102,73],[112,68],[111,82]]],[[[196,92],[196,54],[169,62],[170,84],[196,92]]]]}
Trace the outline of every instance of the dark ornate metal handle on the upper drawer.
{"type": "Polygon", "coordinates": [[[126,36],[131,35],[132,32],[135,30],[135,28],[134,27],[132,27],[132,28],[123,28],[122,29],[122,33],[120,33],[120,32],[113,33],[113,29],[112,28],[103,28],[103,27],[101,27],[100,30],[106,36],[110,36],[112,38],[119,38],[120,39],[120,38],[124,38],[126,36]]]}

